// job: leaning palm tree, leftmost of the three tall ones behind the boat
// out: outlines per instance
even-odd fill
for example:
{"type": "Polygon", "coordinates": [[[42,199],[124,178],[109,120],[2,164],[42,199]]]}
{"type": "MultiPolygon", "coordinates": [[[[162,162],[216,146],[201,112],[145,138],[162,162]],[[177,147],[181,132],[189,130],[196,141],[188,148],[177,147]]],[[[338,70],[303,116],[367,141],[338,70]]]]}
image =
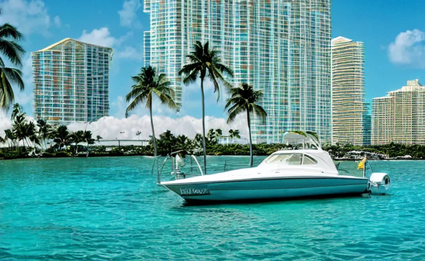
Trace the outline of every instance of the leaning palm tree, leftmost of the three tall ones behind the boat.
{"type": "Polygon", "coordinates": [[[162,104],[178,111],[178,106],[174,102],[174,90],[169,87],[170,82],[167,80],[166,75],[164,73],[157,75],[155,69],[151,66],[142,67],[140,73],[131,77],[131,79],[133,79],[135,84],[131,86],[132,90],[126,96],[127,102],[131,101],[126,110],[126,117],[128,112],[136,108],[140,103],[146,103],[146,108],[149,108],[151,116],[152,138],[156,156],[157,146],[152,118],[152,96],[153,94],[157,95],[162,104]]]}

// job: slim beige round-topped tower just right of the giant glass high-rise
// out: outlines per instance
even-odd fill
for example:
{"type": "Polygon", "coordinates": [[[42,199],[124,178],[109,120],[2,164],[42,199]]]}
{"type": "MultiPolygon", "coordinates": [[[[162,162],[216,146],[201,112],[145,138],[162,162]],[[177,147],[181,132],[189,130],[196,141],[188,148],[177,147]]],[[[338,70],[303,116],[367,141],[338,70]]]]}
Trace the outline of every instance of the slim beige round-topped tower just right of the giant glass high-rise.
{"type": "Polygon", "coordinates": [[[332,142],[364,144],[365,49],[362,42],[332,40],[332,142]]]}

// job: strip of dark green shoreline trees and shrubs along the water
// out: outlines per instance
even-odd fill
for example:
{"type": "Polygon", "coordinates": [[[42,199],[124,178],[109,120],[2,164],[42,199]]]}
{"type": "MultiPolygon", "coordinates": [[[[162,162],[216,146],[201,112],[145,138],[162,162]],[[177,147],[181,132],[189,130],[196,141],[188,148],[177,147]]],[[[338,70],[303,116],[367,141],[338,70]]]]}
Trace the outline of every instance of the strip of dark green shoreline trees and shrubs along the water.
{"type": "MultiPolygon", "coordinates": [[[[6,136],[0,137],[0,144],[6,147],[0,148],[0,159],[21,159],[21,158],[54,158],[54,157],[86,157],[87,144],[88,156],[130,156],[147,155],[153,156],[153,140],[146,146],[119,146],[109,147],[96,144],[102,137],[93,139],[90,131],[70,132],[66,126],[52,126],[43,120],[37,124],[27,120],[21,120],[22,114],[18,114],[13,122],[12,129],[6,130],[6,136]],[[21,141],[19,145],[19,141],[21,141]],[[48,142],[49,141],[49,142],[48,142]]],[[[239,136],[238,130],[230,130],[230,139],[239,136]]],[[[249,144],[219,144],[219,139],[223,137],[221,129],[209,129],[205,137],[207,155],[250,155],[249,144]]],[[[151,137],[152,138],[152,137],[151,137]]],[[[183,150],[182,155],[193,153],[203,155],[202,135],[197,134],[194,139],[185,135],[175,136],[170,131],[164,132],[157,138],[157,153],[161,156],[183,150]]],[[[291,145],[286,144],[252,144],[253,155],[270,155],[280,149],[291,149],[291,145]]],[[[390,143],[386,145],[374,146],[353,146],[329,145],[325,144],[323,149],[327,150],[334,158],[343,158],[345,153],[350,151],[367,151],[385,154],[388,157],[381,159],[396,159],[397,157],[410,155],[412,159],[425,159],[425,145],[403,145],[390,143]]],[[[364,155],[364,154],[363,154],[364,155]]]]}

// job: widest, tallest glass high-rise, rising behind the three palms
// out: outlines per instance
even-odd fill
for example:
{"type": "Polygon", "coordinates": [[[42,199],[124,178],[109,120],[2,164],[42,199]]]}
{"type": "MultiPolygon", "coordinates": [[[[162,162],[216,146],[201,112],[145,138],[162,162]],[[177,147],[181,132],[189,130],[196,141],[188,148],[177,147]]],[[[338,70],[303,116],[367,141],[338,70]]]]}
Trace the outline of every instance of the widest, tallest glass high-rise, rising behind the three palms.
{"type": "Polygon", "coordinates": [[[330,0],[145,0],[144,11],[145,56],[167,74],[177,102],[185,56],[195,41],[209,41],[233,70],[234,86],[264,93],[267,121],[254,117],[253,142],[282,142],[297,129],[330,142],[330,0]]]}

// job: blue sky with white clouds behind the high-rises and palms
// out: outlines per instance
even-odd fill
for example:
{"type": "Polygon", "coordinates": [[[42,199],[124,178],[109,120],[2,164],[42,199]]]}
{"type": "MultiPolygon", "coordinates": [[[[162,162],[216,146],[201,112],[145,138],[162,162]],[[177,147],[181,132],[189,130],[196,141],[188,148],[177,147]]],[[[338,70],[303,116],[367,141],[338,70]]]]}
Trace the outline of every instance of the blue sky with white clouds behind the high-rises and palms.
{"type": "MultiPolygon", "coordinates": [[[[113,48],[109,83],[109,117],[98,124],[90,124],[93,131],[103,126],[120,124],[124,138],[136,138],[135,130],[143,137],[150,134],[145,108],[134,110],[132,121],[123,119],[127,102],[125,95],[132,85],[131,76],[143,66],[143,32],[149,30],[149,14],[143,12],[141,0],[0,0],[0,24],[9,22],[25,35],[21,45],[27,51],[23,57],[25,91],[16,90],[19,102],[27,115],[33,115],[33,83],[31,51],[49,46],[69,37],[83,42],[113,48]]],[[[419,79],[425,85],[425,0],[333,0],[332,37],[344,36],[365,44],[366,102],[373,97],[406,85],[407,80],[419,79]]],[[[239,128],[245,133],[245,117],[237,118],[231,126],[225,124],[225,96],[219,102],[207,85],[207,128],[239,128]]],[[[175,113],[167,108],[155,107],[155,124],[158,133],[177,124],[198,124],[201,117],[200,90],[197,85],[184,87],[183,108],[175,113]],[[167,124],[163,124],[167,121],[167,124]],[[159,122],[159,123],[158,123],[159,122]]],[[[84,124],[85,125],[85,124],[84,124]]],[[[5,116],[0,116],[0,136],[10,126],[5,116]],[[2,118],[3,117],[3,118],[2,118]]],[[[88,128],[90,129],[90,128],[88,128]]],[[[103,134],[115,137],[119,130],[103,134]]],[[[181,129],[183,132],[183,129],[181,129]]],[[[186,134],[187,135],[187,134],[186,134]]],[[[122,136],[120,136],[122,137],[122,136]]],[[[105,138],[105,137],[104,137],[105,138]]]]}

